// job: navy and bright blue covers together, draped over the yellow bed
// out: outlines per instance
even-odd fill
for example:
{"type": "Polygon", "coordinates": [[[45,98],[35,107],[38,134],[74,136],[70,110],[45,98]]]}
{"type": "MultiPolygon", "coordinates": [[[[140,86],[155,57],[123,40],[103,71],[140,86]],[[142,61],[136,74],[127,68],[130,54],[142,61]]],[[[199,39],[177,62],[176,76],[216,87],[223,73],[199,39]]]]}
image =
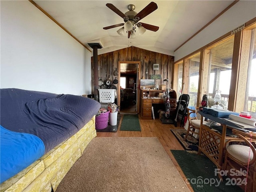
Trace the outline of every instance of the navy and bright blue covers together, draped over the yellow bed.
{"type": "Polygon", "coordinates": [[[0,90],[1,183],[80,130],[100,103],[82,96],[0,90]]]}

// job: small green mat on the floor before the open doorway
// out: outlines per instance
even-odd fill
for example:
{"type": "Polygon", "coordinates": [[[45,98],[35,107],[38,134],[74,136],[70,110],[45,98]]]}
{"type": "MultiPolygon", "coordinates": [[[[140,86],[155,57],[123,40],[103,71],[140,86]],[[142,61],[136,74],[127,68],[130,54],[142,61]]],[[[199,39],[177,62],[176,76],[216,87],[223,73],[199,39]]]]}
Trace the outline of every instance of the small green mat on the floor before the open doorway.
{"type": "Polygon", "coordinates": [[[124,115],[120,131],[141,131],[138,114],[124,115]]]}

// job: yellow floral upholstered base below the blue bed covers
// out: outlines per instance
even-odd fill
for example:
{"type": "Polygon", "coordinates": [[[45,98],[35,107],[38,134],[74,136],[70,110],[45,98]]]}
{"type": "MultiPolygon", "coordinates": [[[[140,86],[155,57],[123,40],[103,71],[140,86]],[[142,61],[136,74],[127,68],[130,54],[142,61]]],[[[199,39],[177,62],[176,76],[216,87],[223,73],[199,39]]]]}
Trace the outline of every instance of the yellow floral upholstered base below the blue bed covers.
{"type": "Polygon", "coordinates": [[[68,170],[82,156],[84,149],[94,137],[95,116],[68,140],[3,182],[0,192],[56,191],[68,170]]]}

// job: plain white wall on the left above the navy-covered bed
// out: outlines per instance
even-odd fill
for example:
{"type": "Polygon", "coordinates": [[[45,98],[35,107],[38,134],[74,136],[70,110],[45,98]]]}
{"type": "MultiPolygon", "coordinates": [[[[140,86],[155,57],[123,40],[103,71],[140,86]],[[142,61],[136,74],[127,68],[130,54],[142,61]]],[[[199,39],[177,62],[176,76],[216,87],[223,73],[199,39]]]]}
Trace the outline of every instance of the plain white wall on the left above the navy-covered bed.
{"type": "Polygon", "coordinates": [[[29,1],[0,7],[0,88],[91,94],[91,52],[29,1]]]}

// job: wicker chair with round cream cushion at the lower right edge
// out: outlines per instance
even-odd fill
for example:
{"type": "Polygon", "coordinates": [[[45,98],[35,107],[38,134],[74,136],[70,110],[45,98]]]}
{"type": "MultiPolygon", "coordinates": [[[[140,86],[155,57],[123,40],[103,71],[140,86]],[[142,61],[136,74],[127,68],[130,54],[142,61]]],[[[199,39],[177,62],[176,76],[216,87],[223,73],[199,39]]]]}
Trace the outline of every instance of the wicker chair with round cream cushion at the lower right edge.
{"type": "MultiPolygon", "coordinates": [[[[240,130],[233,129],[233,134],[237,135],[239,138],[244,140],[246,145],[242,144],[232,144],[229,141],[229,146],[225,150],[225,160],[223,164],[223,170],[229,168],[235,169],[240,172],[240,168],[247,172],[249,152],[250,152],[250,162],[248,169],[248,180],[251,183],[252,191],[256,191],[256,149],[253,145],[256,141],[256,132],[242,132],[240,130]],[[252,139],[252,144],[250,140],[252,139]]],[[[242,174],[242,173],[241,173],[242,174]]]]}

